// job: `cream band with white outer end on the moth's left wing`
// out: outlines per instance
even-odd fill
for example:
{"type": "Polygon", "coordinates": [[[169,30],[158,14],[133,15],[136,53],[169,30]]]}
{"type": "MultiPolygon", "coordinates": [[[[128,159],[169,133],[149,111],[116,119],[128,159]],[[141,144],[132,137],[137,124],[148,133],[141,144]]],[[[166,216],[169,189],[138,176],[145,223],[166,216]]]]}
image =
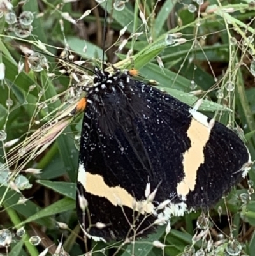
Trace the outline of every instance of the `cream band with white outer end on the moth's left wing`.
{"type": "Polygon", "coordinates": [[[78,181],[82,184],[87,193],[98,197],[105,197],[114,206],[127,206],[133,209],[133,202],[136,202],[136,211],[140,213],[154,213],[154,205],[150,202],[136,201],[124,188],[120,186],[108,186],[103,177],[99,174],[91,174],[86,172],[82,163],[79,165],[78,181]],[[142,206],[140,205],[142,204],[142,206]]]}

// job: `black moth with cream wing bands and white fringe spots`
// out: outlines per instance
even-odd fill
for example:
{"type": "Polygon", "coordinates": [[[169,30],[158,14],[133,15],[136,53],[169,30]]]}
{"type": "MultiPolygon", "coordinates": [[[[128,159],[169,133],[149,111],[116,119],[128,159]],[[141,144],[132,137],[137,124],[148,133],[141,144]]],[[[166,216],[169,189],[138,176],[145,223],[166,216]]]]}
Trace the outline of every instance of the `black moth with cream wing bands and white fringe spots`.
{"type": "Polygon", "coordinates": [[[247,147],[226,126],[129,71],[94,73],[77,192],[78,219],[89,238],[145,236],[157,219],[208,209],[247,174],[247,147]]]}

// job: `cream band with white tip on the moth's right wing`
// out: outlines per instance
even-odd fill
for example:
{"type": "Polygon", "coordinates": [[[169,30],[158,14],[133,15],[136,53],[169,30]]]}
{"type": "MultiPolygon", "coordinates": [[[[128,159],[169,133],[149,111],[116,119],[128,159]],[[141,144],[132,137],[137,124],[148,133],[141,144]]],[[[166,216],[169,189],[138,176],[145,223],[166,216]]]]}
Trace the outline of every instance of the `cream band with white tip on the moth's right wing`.
{"type": "Polygon", "coordinates": [[[208,128],[207,119],[205,119],[207,117],[199,112],[193,112],[191,115],[193,118],[187,130],[187,136],[191,140],[191,147],[184,153],[182,161],[184,179],[177,185],[177,194],[183,199],[189,191],[193,191],[195,188],[198,168],[205,162],[203,149],[210,138],[210,129],[208,128]]]}

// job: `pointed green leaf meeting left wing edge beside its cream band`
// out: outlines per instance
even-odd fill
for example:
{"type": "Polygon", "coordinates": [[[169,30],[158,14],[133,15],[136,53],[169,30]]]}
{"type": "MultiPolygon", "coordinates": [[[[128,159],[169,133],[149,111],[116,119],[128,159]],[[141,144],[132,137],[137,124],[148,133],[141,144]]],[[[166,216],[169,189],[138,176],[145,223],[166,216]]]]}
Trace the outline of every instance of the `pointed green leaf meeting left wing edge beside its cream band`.
{"type": "Polygon", "coordinates": [[[61,182],[61,181],[36,181],[37,183],[46,186],[54,190],[61,195],[65,195],[71,199],[75,199],[76,195],[76,184],[70,182],[61,182]]]}

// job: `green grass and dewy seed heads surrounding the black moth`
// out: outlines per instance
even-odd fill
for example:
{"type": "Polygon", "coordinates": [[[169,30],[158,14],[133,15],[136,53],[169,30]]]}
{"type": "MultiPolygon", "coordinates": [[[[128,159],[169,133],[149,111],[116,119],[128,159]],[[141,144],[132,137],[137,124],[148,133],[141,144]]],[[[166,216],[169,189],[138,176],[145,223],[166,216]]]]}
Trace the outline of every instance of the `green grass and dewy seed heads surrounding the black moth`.
{"type": "MultiPolygon", "coordinates": [[[[137,0],[126,1],[121,11],[113,4],[108,0],[105,61],[138,68],[137,79],[153,80],[189,105],[203,98],[200,110],[244,130],[255,159],[254,1],[137,0]]],[[[207,229],[197,228],[201,213],[190,213],[171,220],[168,236],[159,227],[136,243],[88,241],[85,250],[75,212],[82,115],[70,119],[68,113],[80,98],[72,86],[92,73],[72,62],[101,66],[105,3],[0,0],[0,8],[1,253],[255,255],[254,169],[249,180],[201,215],[210,219],[207,229]],[[32,27],[20,25],[24,11],[33,13],[32,27]],[[10,13],[17,22],[10,24],[10,13]],[[31,59],[31,50],[52,55],[31,59]],[[38,61],[40,72],[33,67],[38,61]],[[20,227],[26,232],[12,236],[20,227]]]]}

